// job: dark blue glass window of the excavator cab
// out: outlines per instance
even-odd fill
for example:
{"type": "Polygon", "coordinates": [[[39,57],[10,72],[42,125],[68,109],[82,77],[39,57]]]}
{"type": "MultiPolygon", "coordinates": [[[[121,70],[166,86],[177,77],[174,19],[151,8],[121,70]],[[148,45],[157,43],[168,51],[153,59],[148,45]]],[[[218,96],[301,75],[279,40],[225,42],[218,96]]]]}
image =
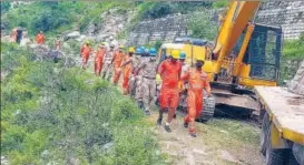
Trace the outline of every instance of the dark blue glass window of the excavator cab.
{"type": "Polygon", "coordinates": [[[249,75],[261,80],[277,80],[282,29],[256,24],[244,62],[251,64],[249,75]]]}

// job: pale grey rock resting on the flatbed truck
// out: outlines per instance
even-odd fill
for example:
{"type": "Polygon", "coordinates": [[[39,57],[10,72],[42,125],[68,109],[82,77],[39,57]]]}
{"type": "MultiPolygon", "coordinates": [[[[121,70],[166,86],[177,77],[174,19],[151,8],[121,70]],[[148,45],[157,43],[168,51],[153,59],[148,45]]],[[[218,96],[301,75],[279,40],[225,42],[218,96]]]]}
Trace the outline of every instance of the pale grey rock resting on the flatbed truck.
{"type": "Polygon", "coordinates": [[[302,61],[294,79],[291,81],[288,90],[293,93],[304,95],[304,60],[302,61]]]}

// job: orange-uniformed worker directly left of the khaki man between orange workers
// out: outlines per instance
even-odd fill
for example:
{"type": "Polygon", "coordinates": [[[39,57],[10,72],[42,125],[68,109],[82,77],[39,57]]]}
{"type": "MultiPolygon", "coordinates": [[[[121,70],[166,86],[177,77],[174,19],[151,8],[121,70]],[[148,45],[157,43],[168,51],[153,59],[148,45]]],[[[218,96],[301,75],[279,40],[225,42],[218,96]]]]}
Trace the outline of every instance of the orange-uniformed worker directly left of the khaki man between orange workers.
{"type": "Polygon", "coordinates": [[[99,47],[99,49],[96,52],[95,55],[95,65],[94,65],[94,71],[97,76],[100,76],[101,70],[102,70],[102,64],[104,64],[104,58],[106,54],[106,43],[102,42],[99,47]]]}

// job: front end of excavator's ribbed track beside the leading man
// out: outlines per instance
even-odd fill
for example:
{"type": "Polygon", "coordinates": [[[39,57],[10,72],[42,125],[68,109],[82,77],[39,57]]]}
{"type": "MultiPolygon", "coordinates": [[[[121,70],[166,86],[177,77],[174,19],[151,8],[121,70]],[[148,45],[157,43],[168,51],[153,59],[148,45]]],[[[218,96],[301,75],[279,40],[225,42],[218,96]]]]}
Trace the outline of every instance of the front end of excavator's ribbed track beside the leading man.
{"type": "Polygon", "coordinates": [[[215,110],[214,96],[204,97],[204,107],[200,113],[200,116],[197,120],[203,123],[209,121],[214,115],[214,110],[215,110]]]}

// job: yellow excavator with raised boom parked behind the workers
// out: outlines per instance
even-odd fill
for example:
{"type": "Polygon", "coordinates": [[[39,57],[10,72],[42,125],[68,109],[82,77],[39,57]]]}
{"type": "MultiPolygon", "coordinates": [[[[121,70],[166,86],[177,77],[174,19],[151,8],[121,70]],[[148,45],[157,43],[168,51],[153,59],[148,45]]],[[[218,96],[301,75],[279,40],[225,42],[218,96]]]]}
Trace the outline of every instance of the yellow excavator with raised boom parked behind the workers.
{"type": "MultiPolygon", "coordinates": [[[[277,85],[283,37],[280,27],[255,23],[259,3],[231,1],[225,14],[219,17],[220,25],[213,48],[202,45],[206,51],[199,53],[192,51],[190,42],[164,43],[159,62],[175,49],[187,52],[189,64],[194,64],[197,55],[204,55],[203,70],[209,76],[216,109],[229,110],[242,117],[258,116],[259,103],[252,89],[277,85]]],[[[203,121],[214,113],[214,109],[207,106],[202,113],[203,121]]]]}

